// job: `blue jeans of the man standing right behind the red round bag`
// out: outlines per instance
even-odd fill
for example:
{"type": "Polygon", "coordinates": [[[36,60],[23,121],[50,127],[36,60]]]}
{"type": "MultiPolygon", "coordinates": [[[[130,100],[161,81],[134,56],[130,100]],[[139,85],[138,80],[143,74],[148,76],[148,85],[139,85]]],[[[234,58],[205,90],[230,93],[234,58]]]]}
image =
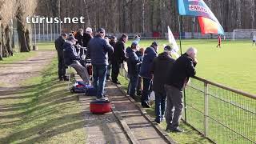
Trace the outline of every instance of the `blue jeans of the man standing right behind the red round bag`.
{"type": "Polygon", "coordinates": [[[97,90],[97,98],[104,96],[104,87],[106,83],[106,65],[93,65],[94,88],[97,90]]]}

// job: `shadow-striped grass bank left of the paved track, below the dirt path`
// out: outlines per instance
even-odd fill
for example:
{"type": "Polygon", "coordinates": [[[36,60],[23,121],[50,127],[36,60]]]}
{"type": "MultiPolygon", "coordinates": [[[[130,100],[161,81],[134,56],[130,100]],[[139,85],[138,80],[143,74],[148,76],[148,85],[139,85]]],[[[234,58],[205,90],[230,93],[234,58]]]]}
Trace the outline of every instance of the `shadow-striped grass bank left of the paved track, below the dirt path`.
{"type": "Polygon", "coordinates": [[[57,78],[54,60],[41,76],[22,82],[23,90],[6,90],[0,143],[85,143],[78,96],[57,78]]]}

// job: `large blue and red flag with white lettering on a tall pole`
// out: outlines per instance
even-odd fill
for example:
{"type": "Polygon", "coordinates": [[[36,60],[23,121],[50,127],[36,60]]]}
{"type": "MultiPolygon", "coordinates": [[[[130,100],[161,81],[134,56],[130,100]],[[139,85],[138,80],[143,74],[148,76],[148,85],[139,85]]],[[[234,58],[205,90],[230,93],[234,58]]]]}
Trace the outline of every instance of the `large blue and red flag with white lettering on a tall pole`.
{"type": "Polygon", "coordinates": [[[222,34],[218,19],[203,0],[178,0],[178,14],[198,17],[202,34],[222,34]]]}

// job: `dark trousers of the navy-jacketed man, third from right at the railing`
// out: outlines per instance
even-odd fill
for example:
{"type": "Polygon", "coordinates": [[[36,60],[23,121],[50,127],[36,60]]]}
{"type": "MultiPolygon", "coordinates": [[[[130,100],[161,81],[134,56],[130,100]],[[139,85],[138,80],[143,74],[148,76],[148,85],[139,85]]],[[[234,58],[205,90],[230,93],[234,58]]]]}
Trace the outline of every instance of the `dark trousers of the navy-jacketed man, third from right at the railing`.
{"type": "Polygon", "coordinates": [[[150,101],[150,86],[151,78],[142,78],[143,80],[143,90],[142,90],[142,103],[150,101]]]}

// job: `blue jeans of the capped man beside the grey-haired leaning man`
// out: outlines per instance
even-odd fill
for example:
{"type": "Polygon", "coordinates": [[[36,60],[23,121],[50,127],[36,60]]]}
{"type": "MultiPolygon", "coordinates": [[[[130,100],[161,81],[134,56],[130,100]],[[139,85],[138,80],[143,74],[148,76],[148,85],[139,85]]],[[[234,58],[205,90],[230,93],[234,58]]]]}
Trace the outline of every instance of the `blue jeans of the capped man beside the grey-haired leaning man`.
{"type": "Polygon", "coordinates": [[[155,115],[158,121],[164,118],[166,111],[166,91],[157,92],[155,94],[155,115]]]}

